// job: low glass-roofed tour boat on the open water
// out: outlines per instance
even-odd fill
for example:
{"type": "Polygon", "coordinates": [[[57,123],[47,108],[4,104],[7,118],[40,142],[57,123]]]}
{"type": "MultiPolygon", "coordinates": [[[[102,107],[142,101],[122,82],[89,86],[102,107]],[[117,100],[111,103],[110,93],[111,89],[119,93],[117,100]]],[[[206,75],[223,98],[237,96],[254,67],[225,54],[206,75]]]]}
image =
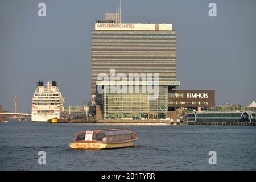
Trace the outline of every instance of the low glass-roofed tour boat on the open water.
{"type": "Polygon", "coordinates": [[[131,147],[137,140],[134,130],[101,129],[80,131],[69,146],[73,149],[103,149],[131,147]]]}

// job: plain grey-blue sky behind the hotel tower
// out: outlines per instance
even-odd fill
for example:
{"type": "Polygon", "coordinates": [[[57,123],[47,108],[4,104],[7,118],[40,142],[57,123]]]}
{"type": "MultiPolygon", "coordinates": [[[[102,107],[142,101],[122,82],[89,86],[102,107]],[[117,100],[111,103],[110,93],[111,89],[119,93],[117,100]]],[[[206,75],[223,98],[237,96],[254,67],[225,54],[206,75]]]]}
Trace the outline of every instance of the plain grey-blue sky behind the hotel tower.
{"type": "MultiPolygon", "coordinates": [[[[256,100],[256,1],[123,0],[122,23],[172,23],[179,89],[216,90],[216,105],[256,100]],[[208,15],[216,3],[217,17],[208,15]]],[[[90,100],[90,34],[118,0],[1,0],[0,104],[31,112],[39,80],[55,80],[65,106],[90,100]],[[46,17],[38,4],[46,4],[46,17]]]]}

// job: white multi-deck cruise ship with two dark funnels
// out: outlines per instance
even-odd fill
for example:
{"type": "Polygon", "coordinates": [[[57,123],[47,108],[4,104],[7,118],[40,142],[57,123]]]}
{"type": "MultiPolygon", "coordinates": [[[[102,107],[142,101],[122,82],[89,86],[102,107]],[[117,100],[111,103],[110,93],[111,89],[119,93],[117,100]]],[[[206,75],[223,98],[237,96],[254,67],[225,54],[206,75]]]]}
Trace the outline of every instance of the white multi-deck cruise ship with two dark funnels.
{"type": "Polygon", "coordinates": [[[38,87],[35,90],[32,98],[31,120],[44,121],[48,119],[60,118],[64,111],[64,97],[60,93],[55,81],[38,82],[38,87]]]}

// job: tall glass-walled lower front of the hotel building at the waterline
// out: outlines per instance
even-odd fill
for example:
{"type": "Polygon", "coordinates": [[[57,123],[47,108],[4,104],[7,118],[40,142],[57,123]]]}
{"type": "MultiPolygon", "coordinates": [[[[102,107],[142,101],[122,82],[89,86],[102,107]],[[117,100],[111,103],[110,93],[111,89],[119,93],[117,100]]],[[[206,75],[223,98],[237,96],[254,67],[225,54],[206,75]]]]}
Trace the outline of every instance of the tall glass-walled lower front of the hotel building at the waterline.
{"type": "MultiPolygon", "coordinates": [[[[140,89],[141,90],[141,89],[140,89]]],[[[159,96],[148,93],[104,93],[104,119],[163,119],[168,117],[168,86],[159,86],[159,96]]]]}

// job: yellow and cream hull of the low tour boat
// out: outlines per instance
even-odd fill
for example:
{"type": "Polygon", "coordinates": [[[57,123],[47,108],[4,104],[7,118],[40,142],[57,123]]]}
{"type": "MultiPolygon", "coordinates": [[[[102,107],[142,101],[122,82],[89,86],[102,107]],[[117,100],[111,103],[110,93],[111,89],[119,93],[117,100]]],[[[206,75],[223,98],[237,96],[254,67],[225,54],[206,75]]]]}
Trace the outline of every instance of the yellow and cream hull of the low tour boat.
{"type": "Polygon", "coordinates": [[[69,147],[72,149],[104,149],[104,148],[123,148],[134,146],[136,140],[128,140],[122,142],[72,142],[69,147]]]}

